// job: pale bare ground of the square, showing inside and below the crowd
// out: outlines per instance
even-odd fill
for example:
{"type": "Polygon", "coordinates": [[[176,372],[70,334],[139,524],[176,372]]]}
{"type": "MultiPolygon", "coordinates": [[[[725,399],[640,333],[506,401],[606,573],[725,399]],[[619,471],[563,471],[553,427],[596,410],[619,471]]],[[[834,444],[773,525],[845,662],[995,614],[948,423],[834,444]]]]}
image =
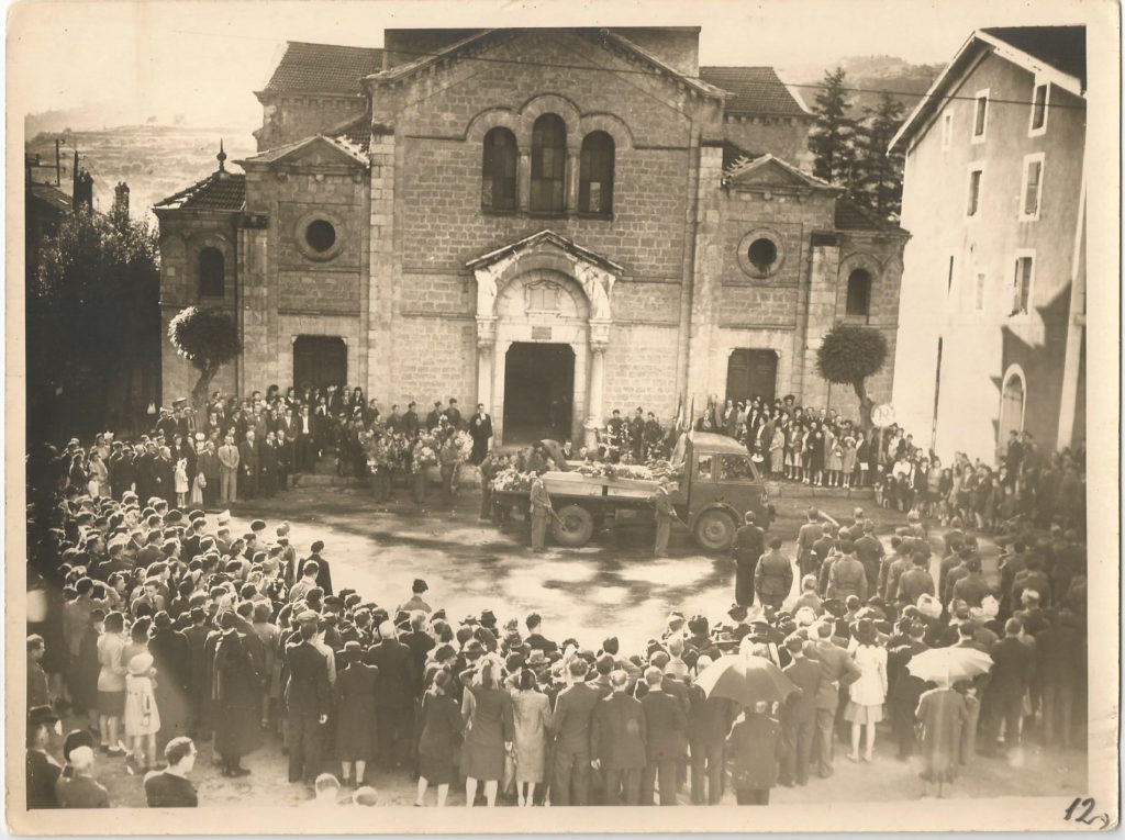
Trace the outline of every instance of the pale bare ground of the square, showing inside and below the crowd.
{"type": "MultiPolygon", "coordinates": [[[[783,536],[783,550],[789,553],[810,503],[847,520],[856,504],[843,496],[778,498],[772,533],[783,536]]],[[[883,535],[903,522],[901,514],[881,511],[871,499],[860,504],[883,535]]],[[[650,557],[652,529],[647,523],[600,534],[583,549],[550,548],[537,557],[525,548],[522,522],[496,527],[478,520],[478,509],[477,493],[469,490],[452,505],[432,498],[420,507],[403,490],[390,504],[377,506],[364,489],[307,488],[236,506],[232,533],[249,530],[249,522],[259,517],[272,533],[285,520],[298,552],[307,552],[314,540],[325,542],[323,554],[331,562],[336,589],[354,588],[381,605],[394,606],[410,597],[411,582],[421,577],[430,585],[429,603],[446,607],[454,621],[484,608],[492,608],[501,622],[507,617],[522,621],[536,611],[543,616],[548,635],[574,636],[593,649],[610,635],[620,639],[622,651],[637,649],[659,635],[674,608],[685,615],[717,616],[731,603],[731,561],[699,553],[683,529],[674,531],[672,556],[662,560],[650,557]]],[[[994,575],[996,549],[990,543],[983,548],[987,571],[994,575]]],[[[272,735],[244,759],[252,773],[237,780],[219,774],[209,744],[198,746],[194,780],[200,804],[297,805],[312,797],[307,786],[286,782],[286,757],[272,735]]],[[[889,724],[880,724],[872,765],[853,765],[844,758],[845,751],[838,746],[836,774],[830,779],[775,788],[772,802],[897,801],[920,795],[918,767],[894,759],[889,724]]],[[[325,769],[340,773],[330,764],[325,769]]],[[[122,759],[99,756],[97,775],[115,805],[144,805],[141,779],[125,771],[122,759]]],[[[370,768],[368,782],[379,792],[380,804],[413,802],[414,783],[402,773],[370,768]]],[[[1041,751],[1029,746],[1008,759],[976,758],[946,795],[1080,795],[1084,783],[1084,752],[1041,751]]],[[[431,792],[431,804],[433,796],[431,792]]],[[[686,788],[681,800],[687,802],[686,788]]],[[[453,789],[449,804],[464,805],[464,789],[453,789]]],[[[734,804],[734,797],[728,795],[724,804],[734,804]]]]}

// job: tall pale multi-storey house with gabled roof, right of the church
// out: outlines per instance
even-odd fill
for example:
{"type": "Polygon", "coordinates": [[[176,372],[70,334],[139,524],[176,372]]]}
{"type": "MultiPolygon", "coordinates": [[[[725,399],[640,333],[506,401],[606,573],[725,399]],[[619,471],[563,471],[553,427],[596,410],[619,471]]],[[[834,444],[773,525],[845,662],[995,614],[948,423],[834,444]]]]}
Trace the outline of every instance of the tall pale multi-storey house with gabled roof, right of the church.
{"type": "Polygon", "coordinates": [[[978,29],[892,139],[916,234],[893,405],[943,458],[1084,439],[1086,85],[1086,27],[978,29]]]}

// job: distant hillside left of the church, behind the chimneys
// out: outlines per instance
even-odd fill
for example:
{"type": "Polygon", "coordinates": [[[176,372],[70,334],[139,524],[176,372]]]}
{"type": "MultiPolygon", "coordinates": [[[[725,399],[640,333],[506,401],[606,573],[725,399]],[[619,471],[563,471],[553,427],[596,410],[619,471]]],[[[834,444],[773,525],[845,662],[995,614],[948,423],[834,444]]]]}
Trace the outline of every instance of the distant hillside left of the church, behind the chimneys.
{"type": "MultiPolygon", "coordinates": [[[[30,128],[30,126],[28,126],[30,128]]],[[[152,206],[214,172],[215,155],[222,138],[227,169],[240,171],[234,161],[256,152],[254,138],[246,130],[233,128],[190,128],[184,126],[126,125],[104,130],[40,132],[25,146],[38,154],[40,166],[35,181],[54,183],[55,138],[61,141],[62,184],[71,191],[74,150],[79,166],[93,175],[94,208],[107,211],[114,202],[119,181],[129,186],[129,215],[155,222],[152,206]]]]}

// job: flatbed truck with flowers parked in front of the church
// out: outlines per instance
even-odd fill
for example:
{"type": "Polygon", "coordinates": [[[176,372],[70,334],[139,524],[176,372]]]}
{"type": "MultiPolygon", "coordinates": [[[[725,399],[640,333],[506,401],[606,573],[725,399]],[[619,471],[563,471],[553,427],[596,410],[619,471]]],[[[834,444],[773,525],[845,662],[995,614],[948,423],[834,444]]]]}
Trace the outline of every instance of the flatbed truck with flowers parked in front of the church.
{"type": "MultiPolygon", "coordinates": [[[[747,512],[754,512],[759,527],[770,526],[774,508],[765,481],[737,441],[710,432],[685,432],[669,462],[673,507],[704,551],[728,551],[747,512]]],[[[542,475],[556,513],[551,533],[558,544],[582,547],[603,527],[636,522],[645,514],[652,517],[651,498],[659,479],[584,475],[580,469],[542,475]]],[[[523,511],[529,507],[529,490],[493,491],[497,503],[523,511]]]]}

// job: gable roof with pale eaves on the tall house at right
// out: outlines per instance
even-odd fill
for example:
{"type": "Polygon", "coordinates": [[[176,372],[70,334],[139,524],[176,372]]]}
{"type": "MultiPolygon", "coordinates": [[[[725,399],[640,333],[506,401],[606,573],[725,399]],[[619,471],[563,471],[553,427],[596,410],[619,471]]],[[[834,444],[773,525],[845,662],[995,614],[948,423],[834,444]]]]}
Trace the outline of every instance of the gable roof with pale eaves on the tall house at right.
{"type": "Polygon", "coordinates": [[[890,148],[903,142],[909,146],[924,134],[934,115],[945,106],[946,97],[952,96],[976,62],[990,54],[999,55],[1076,97],[1086,98],[1084,26],[1009,26],[976,29],[934,80],[926,96],[915,106],[910,116],[891,138],[890,148]]]}

